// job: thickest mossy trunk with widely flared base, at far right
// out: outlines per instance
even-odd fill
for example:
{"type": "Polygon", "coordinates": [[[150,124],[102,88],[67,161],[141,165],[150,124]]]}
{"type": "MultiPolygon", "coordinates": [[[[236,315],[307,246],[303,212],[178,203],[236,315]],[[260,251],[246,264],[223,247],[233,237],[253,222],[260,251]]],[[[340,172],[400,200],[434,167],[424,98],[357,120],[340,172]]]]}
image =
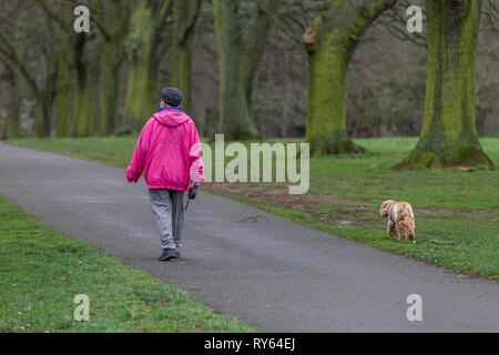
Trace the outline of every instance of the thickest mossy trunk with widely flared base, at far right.
{"type": "Polygon", "coordinates": [[[493,166],[478,139],[475,67],[481,1],[426,1],[427,80],[419,141],[396,169],[493,166]]]}

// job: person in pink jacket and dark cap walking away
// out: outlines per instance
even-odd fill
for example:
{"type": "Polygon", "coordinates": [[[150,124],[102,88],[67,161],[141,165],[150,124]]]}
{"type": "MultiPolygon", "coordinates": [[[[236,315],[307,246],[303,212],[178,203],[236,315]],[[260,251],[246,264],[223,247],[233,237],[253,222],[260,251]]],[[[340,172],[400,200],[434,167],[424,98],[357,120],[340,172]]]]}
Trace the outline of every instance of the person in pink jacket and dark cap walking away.
{"type": "Polygon", "coordinates": [[[151,206],[163,252],[160,261],[181,256],[184,227],[184,195],[194,199],[204,179],[196,125],[181,108],[182,92],[165,88],[160,110],[145,123],[139,136],[126,179],[136,183],[144,171],[151,206]]]}

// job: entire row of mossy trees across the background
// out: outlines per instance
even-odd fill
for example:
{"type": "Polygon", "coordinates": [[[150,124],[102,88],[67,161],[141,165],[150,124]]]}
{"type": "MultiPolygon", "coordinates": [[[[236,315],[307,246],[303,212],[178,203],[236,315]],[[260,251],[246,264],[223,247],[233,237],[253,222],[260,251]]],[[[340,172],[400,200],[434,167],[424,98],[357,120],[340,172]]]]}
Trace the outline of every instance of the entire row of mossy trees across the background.
{"type": "Polygon", "coordinates": [[[394,36],[422,39],[427,48],[422,131],[398,168],[490,166],[478,140],[473,99],[483,13],[496,30],[497,9],[493,1],[485,2],[487,11],[482,0],[427,0],[426,38],[410,38],[405,23],[397,23],[407,20],[400,12],[409,3],[403,0],[89,0],[83,3],[91,9],[92,31],[79,34],[72,30],[75,1],[14,2],[0,22],[0,60],[16,88],[7,132],[19,135],[23,95],[35,101],[40,136],[50,134],[52,124],[57,136],[136,131],[155,105],[161,82],[184,92],[189,112],[197,30],[213,31],[217,43],[217,131],[227,139],[256,136],[252,95],[272,28],[286,31],[284,24],[303,22],[299,16],[306,13],[315,18],[303,34],[308,55],[306,141],[314,155],[358,153],[363,148],[347,133],[348,67],[369,27],[391,11],[397,14],[388,23],[394,36]],[[38,21],[29,22],[33,10],[38,21]],[[164,67],[170,70],[162,72],[164,67]]]}

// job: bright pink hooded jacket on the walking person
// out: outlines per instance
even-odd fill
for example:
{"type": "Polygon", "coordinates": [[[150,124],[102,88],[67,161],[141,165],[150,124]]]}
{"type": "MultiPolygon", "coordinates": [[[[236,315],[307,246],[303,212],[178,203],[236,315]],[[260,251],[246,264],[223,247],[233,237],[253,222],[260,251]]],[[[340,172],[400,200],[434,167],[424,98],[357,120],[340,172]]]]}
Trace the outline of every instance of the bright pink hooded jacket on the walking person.
{"type": "Polygon", "coordinates": [[[160,110],[142,129],[126,179],[136,182],[142,171],[149,189],[187,191],[191,180],[203,181],[196,125],[179,108],[160,110]]]}

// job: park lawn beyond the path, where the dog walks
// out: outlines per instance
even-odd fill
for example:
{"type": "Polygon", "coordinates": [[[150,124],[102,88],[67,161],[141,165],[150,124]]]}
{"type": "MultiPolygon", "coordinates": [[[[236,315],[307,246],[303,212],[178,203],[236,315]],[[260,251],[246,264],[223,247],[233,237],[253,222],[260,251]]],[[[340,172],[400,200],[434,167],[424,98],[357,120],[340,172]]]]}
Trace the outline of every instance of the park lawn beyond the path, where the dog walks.
{"type": "MultiPolygon", "coordinates": [[[[283,140],[269,142],[278,141],[283,140]]],[[[125,168],[136,138],[8,142],[125,168]]],[[[498,278],[497,170],[398,172],[390,168],[407,156],[417,139],[355,142],[368,152],[310,160],[310,189],[304,195],[287,194],[285,183],[214,183],[204,184],[202,189],[381,250],[467,274],[498,278]],[[386,222],[377,216],[377,212],[381,202],[388,199],[411,203],[416,214],[416,244],[386,235],[386,222]]],[[[499,139],[482,139],[481,143],[498,163],[499,139]]]]}

